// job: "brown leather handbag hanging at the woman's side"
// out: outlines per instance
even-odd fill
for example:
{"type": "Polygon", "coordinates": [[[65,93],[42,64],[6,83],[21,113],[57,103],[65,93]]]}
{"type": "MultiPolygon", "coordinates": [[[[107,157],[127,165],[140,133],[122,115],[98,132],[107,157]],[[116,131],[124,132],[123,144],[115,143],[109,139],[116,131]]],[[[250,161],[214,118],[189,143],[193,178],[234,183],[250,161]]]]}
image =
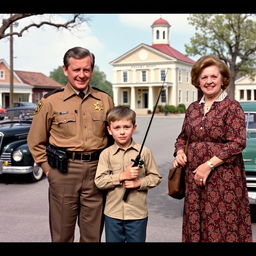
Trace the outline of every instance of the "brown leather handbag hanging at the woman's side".
{"type": "MultiPolygon", "coordinates": [[[[184,152],[187,155],[188,141],[185,145],[184,152]]],[[[185,166],[170,168],[168,175],[168,195],[175,199],[185,197],[185,166]]]]}

